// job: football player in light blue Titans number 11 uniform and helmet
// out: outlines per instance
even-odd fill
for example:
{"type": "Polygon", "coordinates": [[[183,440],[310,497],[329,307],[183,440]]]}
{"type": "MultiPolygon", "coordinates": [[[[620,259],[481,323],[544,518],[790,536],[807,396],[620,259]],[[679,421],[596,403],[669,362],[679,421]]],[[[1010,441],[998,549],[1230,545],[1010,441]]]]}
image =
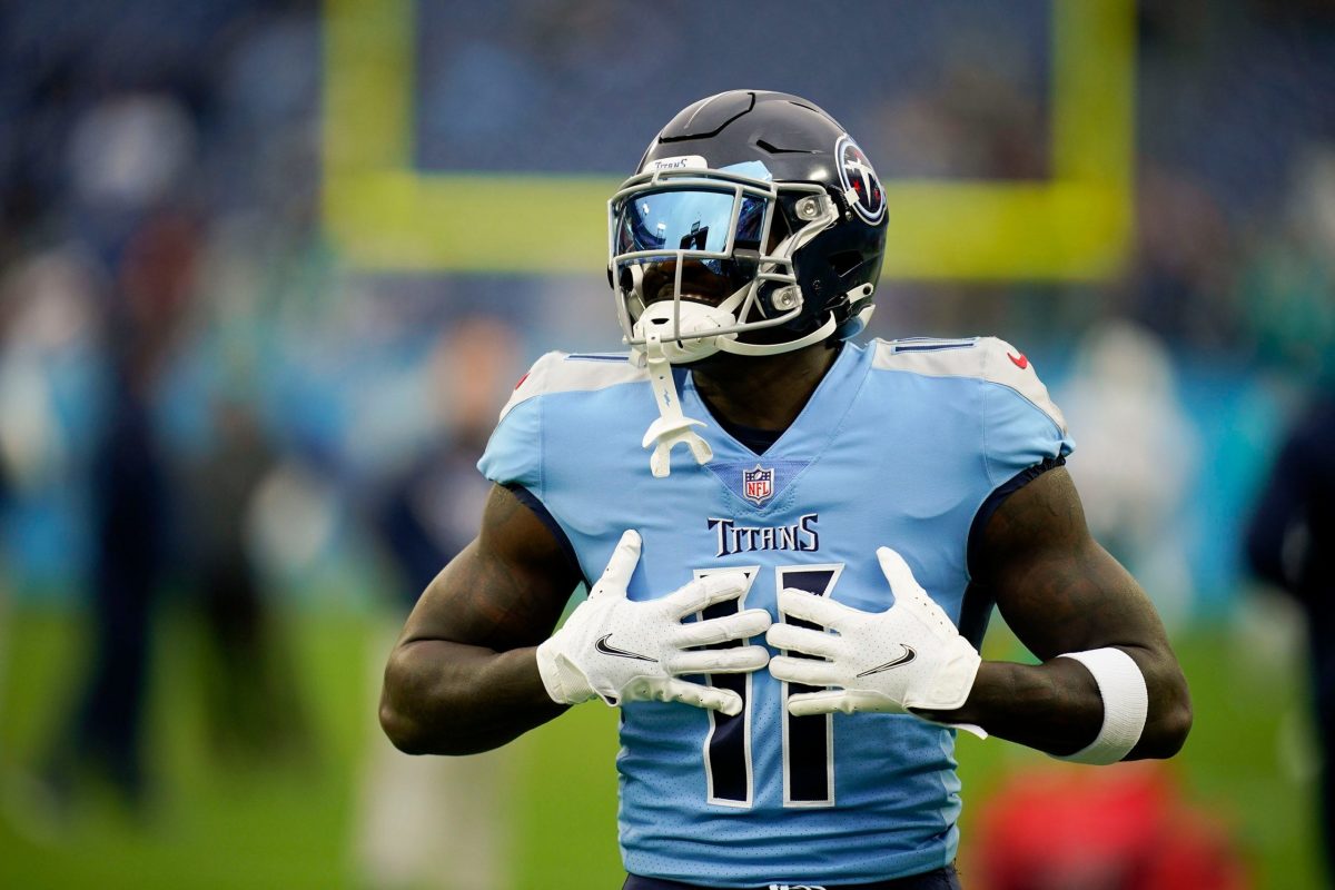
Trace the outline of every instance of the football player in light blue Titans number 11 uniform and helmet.
{"type": "Polygon", "coordinates": [[[399,747],[619,707],[631,890],[959,886],[957,729],[1179,750],[1181,671],[1024,354],[850,342],[893,208],[838,123],[704,99],[609,211],[629,356],[547,354],[505,406],[481,532],[386,671],[399,747]],[[981,660],[993,606],[1041,663],[981,660]]]}

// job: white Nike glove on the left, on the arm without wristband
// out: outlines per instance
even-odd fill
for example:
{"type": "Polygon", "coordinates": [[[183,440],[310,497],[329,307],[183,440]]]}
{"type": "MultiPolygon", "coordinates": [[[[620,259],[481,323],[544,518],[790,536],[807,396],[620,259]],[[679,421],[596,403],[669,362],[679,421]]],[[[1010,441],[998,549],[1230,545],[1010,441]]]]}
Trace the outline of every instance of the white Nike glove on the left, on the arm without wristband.
{"type": "Polygon", "coordinates": [[[765,667],[764,646],[692,650],[764,634],[764,608],[682,623],[714,603],[740,596],[745,572],[718,572],[693,580],[659,599],[626,599],[626,584],[639,562],[639,535],[627,531],[617,543],[589,599],[538,646],[538,673],[554,702],[575,705],[594,695],[607,705],[684,702],[724,714],[740,714],[742,699],[732,690],[688,683],[684,674],[746,674],[765,667]]]}

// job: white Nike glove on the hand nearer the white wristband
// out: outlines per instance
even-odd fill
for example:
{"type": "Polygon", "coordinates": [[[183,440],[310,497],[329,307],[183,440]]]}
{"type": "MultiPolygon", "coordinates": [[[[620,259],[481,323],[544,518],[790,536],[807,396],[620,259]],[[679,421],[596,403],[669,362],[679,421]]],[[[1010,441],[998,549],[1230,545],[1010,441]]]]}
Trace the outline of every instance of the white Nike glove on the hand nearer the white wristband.
{"type": "MultiPolygon", "coordinates": [[[[769,673],[789,683],[837,686],[788,699],[794,717],[842,711],[948,711],[964,705],[981,658],[914,580],[904,558],[889,547],[876,551],[894,604],[864,612],[824,596],[784,590],[778,610],[836,631],[774,624],[766,642],[774,648],[816,658],[776,655],[769,673]]],[[[952,725],[953,726],[953,725],[952,725]]],[[[981,733],[972,726],[961,726],[981,733]]]]}

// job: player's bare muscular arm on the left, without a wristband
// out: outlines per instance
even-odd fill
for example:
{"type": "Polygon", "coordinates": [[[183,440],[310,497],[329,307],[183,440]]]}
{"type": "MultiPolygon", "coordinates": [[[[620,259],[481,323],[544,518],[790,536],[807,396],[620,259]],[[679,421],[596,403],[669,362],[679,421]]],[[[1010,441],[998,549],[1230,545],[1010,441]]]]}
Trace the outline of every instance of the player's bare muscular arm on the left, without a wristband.
{"type": "Polygon", "coordinates": [[[493,487],[478,538],[427,586],[390,655],[390,741],[409,754],[474,754],[561,714],[534,647],[578,582],[551,531],[493,487]]]}

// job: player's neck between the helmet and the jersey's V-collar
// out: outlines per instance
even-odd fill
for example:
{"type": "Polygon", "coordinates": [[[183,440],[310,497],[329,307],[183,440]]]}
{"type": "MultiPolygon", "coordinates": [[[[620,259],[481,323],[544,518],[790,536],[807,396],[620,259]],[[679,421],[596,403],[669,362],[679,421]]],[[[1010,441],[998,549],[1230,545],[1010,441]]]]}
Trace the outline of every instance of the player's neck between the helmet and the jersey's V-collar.
{"type": "Polygon", "coordinates": [[[692,379],[721,420],[756,430],[786,430],[838,354],[840,347],[824,344],[782,355],[724,354],[694,367],[692,379]]]}

